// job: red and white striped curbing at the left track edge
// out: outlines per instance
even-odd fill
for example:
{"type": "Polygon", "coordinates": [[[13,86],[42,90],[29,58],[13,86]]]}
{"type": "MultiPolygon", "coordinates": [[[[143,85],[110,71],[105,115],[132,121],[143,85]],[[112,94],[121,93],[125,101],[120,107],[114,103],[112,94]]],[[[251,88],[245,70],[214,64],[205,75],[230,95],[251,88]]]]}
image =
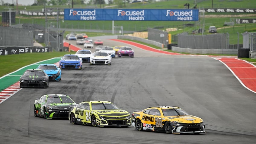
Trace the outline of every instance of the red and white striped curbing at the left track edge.
{"type": "Polygon", "coordinates": [[[0,92],[0,104],[20,90],[20,82],[16,82],[8,88],[5,88],[3,91],[0,92]]]}

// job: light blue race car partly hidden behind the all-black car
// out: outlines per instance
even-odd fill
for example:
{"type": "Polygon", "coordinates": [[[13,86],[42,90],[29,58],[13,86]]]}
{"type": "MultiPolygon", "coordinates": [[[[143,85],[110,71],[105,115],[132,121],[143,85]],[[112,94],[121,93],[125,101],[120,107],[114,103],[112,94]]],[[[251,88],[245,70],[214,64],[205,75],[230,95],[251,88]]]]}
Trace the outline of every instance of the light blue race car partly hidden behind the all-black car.
{"type": "Polygon", "coordinates": [[[42,69],[49,76],[49,81],[61,80],[61,69],[55,64],[40,64],[37,69],[42,69]]]}

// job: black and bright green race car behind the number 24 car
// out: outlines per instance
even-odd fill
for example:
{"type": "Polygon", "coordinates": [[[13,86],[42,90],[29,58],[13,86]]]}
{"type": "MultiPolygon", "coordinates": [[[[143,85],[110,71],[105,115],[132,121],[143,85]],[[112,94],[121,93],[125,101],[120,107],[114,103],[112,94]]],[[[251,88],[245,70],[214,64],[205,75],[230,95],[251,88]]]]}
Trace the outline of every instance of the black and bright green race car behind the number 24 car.
{"type": "Polygon", "coordinates": [[[65,94],[44,94],[34,103],[34,116],[45,119],[68,118],[69,107],[77,105],[65,94]]]}

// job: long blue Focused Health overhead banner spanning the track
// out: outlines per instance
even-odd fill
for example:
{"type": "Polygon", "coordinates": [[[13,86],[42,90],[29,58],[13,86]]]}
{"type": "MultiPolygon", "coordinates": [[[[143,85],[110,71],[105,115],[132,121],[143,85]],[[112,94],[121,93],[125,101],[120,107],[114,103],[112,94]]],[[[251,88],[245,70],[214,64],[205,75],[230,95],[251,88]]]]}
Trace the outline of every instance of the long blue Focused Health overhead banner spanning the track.
{"type": "Polygon", "coordinates": [[[64,9],[64,20],[198,21],[198,9],[64,9]]]}

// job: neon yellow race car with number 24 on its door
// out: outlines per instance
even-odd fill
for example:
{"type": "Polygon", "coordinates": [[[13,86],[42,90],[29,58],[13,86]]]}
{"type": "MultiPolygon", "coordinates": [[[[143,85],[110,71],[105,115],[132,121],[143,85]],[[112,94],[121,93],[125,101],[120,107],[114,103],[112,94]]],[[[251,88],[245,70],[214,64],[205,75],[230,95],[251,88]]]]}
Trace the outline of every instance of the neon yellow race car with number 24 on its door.
{"type": "Polygon", "coordinates": [[[84,101],[69,107],[73,124],[92,126],[131,126],[131,115],[109,101],[84,101]]]}

